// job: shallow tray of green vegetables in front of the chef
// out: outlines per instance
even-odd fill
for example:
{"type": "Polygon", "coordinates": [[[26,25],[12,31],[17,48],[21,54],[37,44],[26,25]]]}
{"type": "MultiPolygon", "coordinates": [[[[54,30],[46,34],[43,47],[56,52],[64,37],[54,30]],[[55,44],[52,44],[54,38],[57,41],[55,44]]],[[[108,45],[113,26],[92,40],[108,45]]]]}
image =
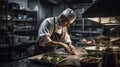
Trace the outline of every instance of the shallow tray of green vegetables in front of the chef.
{"type": "Polygon", "coordinates": [[[30,57],[28,60],[34,63],[56,65],[63,62],[66,58],[65,56],[41,54],[30,57]]]}

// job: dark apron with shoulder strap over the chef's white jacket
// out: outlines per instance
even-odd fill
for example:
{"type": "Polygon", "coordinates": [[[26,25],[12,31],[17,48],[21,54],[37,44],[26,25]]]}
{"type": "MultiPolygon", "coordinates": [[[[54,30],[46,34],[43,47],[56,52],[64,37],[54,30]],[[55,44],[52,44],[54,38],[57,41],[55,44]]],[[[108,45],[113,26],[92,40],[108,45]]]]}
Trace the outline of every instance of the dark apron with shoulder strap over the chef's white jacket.
{"type": "MultiPolygon", "coordinates": [[[[62,34],[58,34],[57,32],[55,32],[55,17],[54,17],[54,29],[53,29],[53,33],[51,35],[51,40],[52,41],[57,41],[60,42],[61,41],[61,37],[63,36],[62,34]]],[[[62,29],[63,32],[63,29],[62,29]]],[[[39,43],[39,42],[38,42],[39,43]]],[[[55,49],[57,48],[56,45],[46,45],[46,46],[41,46],[41,45],[35,45],[35,53],[45,53],[45,52],[51,52],[51,51],[55,51],[55,49]]]]}

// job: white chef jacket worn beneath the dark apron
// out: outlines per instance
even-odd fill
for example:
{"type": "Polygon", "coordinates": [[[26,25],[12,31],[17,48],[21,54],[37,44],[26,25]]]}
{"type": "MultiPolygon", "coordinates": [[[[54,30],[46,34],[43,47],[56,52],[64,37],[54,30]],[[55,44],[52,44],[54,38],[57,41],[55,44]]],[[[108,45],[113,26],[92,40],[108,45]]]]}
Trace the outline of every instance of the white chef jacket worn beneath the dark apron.
{"type": "MultiPolygon", "coordinates": [[[[45,46],[47,42],[52,41],[51,35],[53,34],[53,32],[59,33],[59,30],[57,29],[58,28],[57,25],[58,25],[57,17],[49,17],[41,23],[39,27],[39,32],[38,32],[38,41],[41,46],[45,46]]],[[[62,27],[61,30],[62,30],[63,36],[61,37],[60,42],[71,44],[67,27],[62,27]]]]}

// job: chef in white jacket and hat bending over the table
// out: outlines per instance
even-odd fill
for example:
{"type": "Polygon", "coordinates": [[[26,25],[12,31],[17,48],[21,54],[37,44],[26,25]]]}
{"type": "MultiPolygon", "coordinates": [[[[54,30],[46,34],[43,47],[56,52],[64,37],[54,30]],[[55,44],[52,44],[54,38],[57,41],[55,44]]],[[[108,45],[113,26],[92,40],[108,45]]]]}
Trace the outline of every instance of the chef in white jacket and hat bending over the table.
{"type": "Polygon", "coordinates": [[[76,14],[70,8],[65,9],[56,17],[46,18],[39,27],[37,38],[39,44],[35,45],[36,52],[54,51],[59,46],[69,54],[76,54],[67,31],[67,26],[75,19],[76,14]]]}

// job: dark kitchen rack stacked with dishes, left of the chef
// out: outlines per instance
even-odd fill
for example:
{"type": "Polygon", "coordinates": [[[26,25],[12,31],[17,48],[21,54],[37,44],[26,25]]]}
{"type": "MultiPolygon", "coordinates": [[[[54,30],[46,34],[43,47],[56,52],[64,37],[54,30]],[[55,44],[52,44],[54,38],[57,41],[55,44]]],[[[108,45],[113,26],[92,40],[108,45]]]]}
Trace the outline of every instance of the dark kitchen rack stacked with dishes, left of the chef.
{"type": "Polygon", "coordinates": [[[9,0],[0,9],[0,62],[30,56],[27,49],[35,45],[37,35],[37,11],[9,9],[9,0]],[[3,56],[4,55],[4,56],[3,56]]]}

